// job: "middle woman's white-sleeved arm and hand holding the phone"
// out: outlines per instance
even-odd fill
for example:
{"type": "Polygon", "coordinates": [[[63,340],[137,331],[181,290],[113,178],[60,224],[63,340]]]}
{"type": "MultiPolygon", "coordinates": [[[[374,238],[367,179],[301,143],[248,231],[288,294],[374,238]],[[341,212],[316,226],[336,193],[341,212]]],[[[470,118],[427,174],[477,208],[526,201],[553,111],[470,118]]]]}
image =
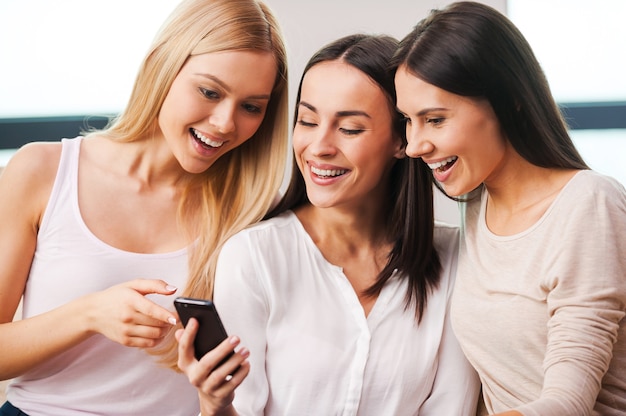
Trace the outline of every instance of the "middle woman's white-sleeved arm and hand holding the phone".
{"type": "Polygon", "coordinates": [[[188,325],[183,335],[189,337],[179,340],[179,367],[198,389],[204,416],[261,415],[267,401],[264,324],[267,308],[264,290],[258,285],[260,267],[253,258],[255,250],[245,234],[238,234],[220,251],[213,301],[230,337],[200,361],[193,358],[193,327],[188,325]],[[248,348],[238,349],[227,363],[216,367],[239,344],[239,337],[248,348]],[[232,380],[224,383],[226,375],[239,365],[232,380]]]}

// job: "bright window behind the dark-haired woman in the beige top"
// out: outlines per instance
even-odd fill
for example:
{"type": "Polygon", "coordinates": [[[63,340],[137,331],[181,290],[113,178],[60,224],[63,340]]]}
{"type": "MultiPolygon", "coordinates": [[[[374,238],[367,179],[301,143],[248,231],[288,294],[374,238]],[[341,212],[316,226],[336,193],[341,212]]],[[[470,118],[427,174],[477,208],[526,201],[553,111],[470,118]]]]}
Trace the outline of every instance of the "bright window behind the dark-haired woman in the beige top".
{"type": "Polygon", "coordinates": [[[587,164],[626,185],[626,2],[508,0],[587,164]]]}

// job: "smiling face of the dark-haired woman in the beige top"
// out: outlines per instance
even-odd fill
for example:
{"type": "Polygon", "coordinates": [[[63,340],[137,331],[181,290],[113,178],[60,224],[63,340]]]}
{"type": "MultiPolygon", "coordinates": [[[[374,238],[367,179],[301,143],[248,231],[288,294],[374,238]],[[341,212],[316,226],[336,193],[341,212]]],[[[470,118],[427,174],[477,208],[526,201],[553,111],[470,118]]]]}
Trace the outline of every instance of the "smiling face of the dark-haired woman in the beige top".
{"type": "Polygon", "coordinates": [[[421,157],[448,195],[466,194],[501,173],[510,145],[489,102],[437,88],[405,66],[395,85],[407,121],[406,153],[421,157]]]}

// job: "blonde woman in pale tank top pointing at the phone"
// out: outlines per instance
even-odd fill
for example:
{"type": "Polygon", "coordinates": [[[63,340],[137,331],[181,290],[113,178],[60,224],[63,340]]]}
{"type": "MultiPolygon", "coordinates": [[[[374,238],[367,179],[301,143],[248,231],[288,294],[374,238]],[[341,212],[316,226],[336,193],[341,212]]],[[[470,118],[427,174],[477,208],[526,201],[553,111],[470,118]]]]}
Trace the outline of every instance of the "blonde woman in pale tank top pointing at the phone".
{"type": "Polygon", "coordinates": [[[271,11],[191,0],[109,127],[15,154],[0,177],[0,415],[198,413],[172,371],[172,300],[210,297],[222,243],[266,214],[287,120],[271,11]]]}

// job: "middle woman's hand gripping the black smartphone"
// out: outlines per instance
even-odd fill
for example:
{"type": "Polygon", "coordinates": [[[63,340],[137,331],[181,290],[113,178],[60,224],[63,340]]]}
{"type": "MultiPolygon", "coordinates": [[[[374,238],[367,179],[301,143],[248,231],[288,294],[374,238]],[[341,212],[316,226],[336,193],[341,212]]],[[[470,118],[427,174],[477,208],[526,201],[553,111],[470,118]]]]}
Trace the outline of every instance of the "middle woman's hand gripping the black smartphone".
{"type": "Polygon", "coordinates": [[[202,415],[236,415],[232,402],[235,389],[250,371],[250,363],[247,361],[250,352],[240,348],[219,365],[239,345],[239,338],[230,336],[198,361],[193,348],[197,332],[198,321],[194,318],[189,320],[185,329],[176,331],[178,367],[198,390],[202,415]]]}

